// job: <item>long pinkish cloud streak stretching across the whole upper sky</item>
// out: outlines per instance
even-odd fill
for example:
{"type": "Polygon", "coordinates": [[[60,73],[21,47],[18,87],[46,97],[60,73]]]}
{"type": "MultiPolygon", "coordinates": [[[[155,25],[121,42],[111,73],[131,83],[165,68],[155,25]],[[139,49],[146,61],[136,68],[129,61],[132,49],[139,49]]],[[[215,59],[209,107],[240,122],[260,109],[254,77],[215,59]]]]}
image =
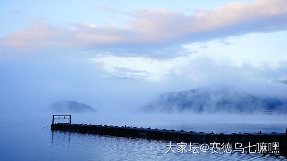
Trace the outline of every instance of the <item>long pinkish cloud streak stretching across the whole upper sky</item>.
{"type": "MultiPolygon", "coordinates": [[[[133,49],[141,47],[154,50],[217,37],[287,29],[287,1],[284,0],[233,2],[194,15],[167,9],[137,10],[134,15],[135,19],[127,21],[125,28],[96,24],[69,24],[69,28],[63,28],[34,21],[28,29],[3,37],[1,47],[128,49],[135,52],[134,54],[141,54],[140,50],[133,49]]],[[[152,54],[156,55],[150,53],[152,54]]]]}

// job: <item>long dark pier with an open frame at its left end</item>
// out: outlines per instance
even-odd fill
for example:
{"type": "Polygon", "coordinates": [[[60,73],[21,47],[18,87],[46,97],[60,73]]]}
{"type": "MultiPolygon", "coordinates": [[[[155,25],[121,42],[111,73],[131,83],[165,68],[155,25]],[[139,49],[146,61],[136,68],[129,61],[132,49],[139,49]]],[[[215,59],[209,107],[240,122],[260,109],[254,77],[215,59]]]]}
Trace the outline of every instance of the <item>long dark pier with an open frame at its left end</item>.
{"type": "Polygon", "coordinates": [[[69,119],[71,122],[71,116],[53,116],[53,123],[51,124],[51,130],[62,130],[81,133],[92,133],[99,135],[111,135],[119,137],[137,137],[149,140],[163,140],[172,141],[176,143],[230,143],[233,148],[235,143],[242,143],[242,147],[250,145],[256,145],[256,143],[279,143],[280,154],[286,154],[287,152],[287,130],[285,133],[203,133],[193,131],[176,131],[166,129],[151,129],[151,128],[137,128],[137,127],[118,127],[107,125],[87,125],[87,124],[54,124],[54,119],[69,119]],[[56,117],[56,118],[54,118],[56,117]],[[70,117],[70,118],[69,118],[70,117]]]}

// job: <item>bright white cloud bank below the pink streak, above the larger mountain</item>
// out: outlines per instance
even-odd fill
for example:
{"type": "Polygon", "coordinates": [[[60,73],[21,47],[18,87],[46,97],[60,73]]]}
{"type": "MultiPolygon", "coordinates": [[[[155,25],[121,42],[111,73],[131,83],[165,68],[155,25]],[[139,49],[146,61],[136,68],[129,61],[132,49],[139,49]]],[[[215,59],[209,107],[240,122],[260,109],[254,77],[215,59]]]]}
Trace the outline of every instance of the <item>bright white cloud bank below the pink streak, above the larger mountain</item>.
{"type": "Polygon", "coordinates": [[[160,82],[176,78],[192,81],[223,78],[269,81],[285,78],[287,51],[277,41],[269,40],[277,38],[280,42],[287,42],[287,36],[284,35],[287,32],[230,37],[224,40],[229,45],[222,44],[220,39],[192,43],[183,46],[189,51],[189,55],[169,59],[102,55],[93,58],[93,61],[104,64],[102,67],[116,77],[149,81],[160,82]]]}

